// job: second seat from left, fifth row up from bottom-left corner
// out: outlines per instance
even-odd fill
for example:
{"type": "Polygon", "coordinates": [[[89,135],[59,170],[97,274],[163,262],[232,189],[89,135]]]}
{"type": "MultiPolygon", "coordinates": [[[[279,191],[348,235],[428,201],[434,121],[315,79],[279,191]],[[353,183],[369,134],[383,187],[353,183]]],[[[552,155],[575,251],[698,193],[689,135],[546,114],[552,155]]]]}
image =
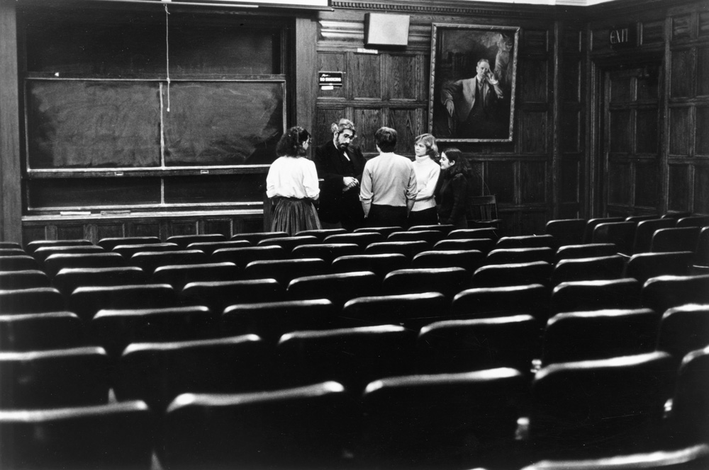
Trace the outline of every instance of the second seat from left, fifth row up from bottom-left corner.
{"type": "Polygon", "coordinates": [[[108,286],[108,285],[138,285],[147,281],[147,274],[136,266],[123,268],[62,268],[52,280],[65,297],[74,292],[77,287],[108,286]]]}

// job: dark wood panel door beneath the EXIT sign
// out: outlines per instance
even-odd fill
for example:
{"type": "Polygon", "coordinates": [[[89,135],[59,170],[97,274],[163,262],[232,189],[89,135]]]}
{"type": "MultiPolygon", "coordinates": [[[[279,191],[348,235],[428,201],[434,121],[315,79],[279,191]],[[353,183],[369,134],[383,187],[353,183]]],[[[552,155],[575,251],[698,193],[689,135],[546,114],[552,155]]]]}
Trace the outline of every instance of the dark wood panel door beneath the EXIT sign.
{"type": "Polygon", "coordinates": [[[661,206],[661,68],[603,72],[601,213],[657,214],[661,206]]]}

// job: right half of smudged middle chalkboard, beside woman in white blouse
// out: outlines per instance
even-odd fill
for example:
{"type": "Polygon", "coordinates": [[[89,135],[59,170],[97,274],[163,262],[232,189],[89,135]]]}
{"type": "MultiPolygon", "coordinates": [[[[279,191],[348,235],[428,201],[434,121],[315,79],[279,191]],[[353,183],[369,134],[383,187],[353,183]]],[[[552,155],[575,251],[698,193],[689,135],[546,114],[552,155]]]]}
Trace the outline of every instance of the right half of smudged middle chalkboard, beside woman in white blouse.
{"type": "Polygon", "coordinates": [[[282,82],[163,87],[165,165],[270,164],[284,131],[282,82]]]}

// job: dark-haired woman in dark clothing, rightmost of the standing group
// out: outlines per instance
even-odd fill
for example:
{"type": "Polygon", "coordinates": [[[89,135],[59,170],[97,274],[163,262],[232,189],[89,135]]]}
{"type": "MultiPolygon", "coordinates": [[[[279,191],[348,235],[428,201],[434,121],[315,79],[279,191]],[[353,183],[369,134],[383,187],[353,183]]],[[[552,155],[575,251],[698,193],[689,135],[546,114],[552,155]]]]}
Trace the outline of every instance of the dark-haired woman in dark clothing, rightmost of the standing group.
{"type": "Polygon", "coordinates": [[[473,170],[458,149],[441,152],[441,179],[437,200],[441,224],[453,224],[456,229],[467,229],[468,193],[473,170]]]}

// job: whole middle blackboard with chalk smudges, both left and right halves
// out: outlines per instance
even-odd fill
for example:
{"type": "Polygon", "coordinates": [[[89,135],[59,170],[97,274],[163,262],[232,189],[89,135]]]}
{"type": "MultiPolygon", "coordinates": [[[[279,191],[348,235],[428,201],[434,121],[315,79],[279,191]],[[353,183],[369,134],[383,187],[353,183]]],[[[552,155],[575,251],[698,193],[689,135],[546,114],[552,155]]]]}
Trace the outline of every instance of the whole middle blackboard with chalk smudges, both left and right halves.
{"type": "Polygon", "coordinates": [[[283,102],[282,82],[29,80],[28,168],[269,164],[283,102]]]}

